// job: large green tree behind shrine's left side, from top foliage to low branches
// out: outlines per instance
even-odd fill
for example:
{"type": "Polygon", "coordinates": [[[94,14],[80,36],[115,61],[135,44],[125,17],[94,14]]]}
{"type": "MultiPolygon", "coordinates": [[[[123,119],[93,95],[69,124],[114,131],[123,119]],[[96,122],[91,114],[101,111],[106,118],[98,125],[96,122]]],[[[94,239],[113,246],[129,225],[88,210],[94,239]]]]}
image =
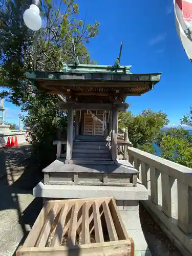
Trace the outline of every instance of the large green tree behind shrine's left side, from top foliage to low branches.
{"type": "Polygon", "coordinates": [[[35,145],[40,162],[45,164],[46,160],[52,160],[57,126],[65,132],[67,120],[65,113],[57,109],[57,97],[35,91],[25,78],[25,71],[33,68],[35,59],[35,68],[40,71],[60,71],[62,62],[72,63],[72,38],[80,63],[92,62],[86,45],[97,35],[99,23],[86,24],[78,19],[79,7],[74,0],[42,3],[43,27],[35,33],[23,22],[29,1],[9,0],[0,8],[0,82],[9,89],[9,92],[3,91],[2,96],[22,105],[22,110],[28,112],[23,121],[29,128],[30,142],[35,145]],[[33,98],[32,93],[36,97],[33,98]]]}

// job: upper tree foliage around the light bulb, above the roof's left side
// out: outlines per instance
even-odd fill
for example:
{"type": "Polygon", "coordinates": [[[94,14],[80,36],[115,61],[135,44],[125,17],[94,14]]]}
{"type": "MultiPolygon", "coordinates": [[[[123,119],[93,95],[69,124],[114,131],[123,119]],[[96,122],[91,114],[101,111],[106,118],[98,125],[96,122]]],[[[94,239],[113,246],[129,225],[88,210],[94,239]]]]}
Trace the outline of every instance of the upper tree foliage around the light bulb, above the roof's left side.
{"type": "Polygon", "coordinates": [[[33,91],[25,79],[25,71],[33,67],[35,59],[35,68],[41,71],[59,71],[62,62],[73,61],[72,37],[81,63],[90,62],[84,44],[97,35],[99,23],[95,21],[91,25],[78,20],[78,5],[74,0],[45,0],[42,3],[44,26],[35,33],[23,22],[23,12],[29,7],[29,1],[9,0],[0,8],[0,79],[3,87],[10,89],[2,96],[7,95],[14,104],[25,102],[33,91]]]}

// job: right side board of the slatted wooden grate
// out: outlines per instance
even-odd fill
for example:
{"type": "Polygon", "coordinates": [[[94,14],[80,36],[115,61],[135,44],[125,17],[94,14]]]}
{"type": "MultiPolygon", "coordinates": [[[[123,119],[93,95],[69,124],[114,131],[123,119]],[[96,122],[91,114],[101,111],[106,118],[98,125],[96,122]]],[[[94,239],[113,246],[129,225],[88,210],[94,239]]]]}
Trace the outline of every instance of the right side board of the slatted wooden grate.
{"type": "Polygon", "coordinates": [[[109,205],[110,205],[110,210],[111,210],[112,218],[114,221],[114,225],[115,225],[115,228],[116,228],[116,231],[118,234],[118,239],[119,240],[128,239],[129,237],[127,235],[126,228],[123,224],[123,221],[122,221],[119,211],[117,209],[115,200],[112,199],[110,201],[109,205]]]}

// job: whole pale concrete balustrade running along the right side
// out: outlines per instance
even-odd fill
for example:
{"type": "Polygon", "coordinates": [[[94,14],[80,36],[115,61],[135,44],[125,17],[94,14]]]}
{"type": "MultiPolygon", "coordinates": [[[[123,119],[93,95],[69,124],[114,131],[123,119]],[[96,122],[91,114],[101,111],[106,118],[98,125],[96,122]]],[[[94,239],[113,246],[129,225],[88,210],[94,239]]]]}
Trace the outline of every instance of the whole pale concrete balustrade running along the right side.
{"type": "Polygon", "coordinates": [[[143,201],[183,255],[192,253],[192,169],[128,147],[129,162],[150,199],[143,201]]]}

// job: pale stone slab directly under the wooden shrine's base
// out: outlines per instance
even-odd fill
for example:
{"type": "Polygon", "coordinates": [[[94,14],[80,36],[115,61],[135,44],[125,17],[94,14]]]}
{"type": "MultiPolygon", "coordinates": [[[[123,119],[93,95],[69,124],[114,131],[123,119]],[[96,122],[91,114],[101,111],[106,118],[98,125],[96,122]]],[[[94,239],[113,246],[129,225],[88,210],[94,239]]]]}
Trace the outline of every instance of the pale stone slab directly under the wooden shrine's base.
{"type": "MultiPolygon", "coordinates": [[[[44,185],[39,182],[33,189],[35,197],[42,198],[101,198],[114,197],[116,200],[148,200],[147,189],[138,184],[137,187],[105,187],[105,186],[73,186],[73,185],[44,185]]],[[[126,205],[123,207],[132,207],[126,205]]],[[[122,208],[123,209],[123,208],[122,208]]]]}

